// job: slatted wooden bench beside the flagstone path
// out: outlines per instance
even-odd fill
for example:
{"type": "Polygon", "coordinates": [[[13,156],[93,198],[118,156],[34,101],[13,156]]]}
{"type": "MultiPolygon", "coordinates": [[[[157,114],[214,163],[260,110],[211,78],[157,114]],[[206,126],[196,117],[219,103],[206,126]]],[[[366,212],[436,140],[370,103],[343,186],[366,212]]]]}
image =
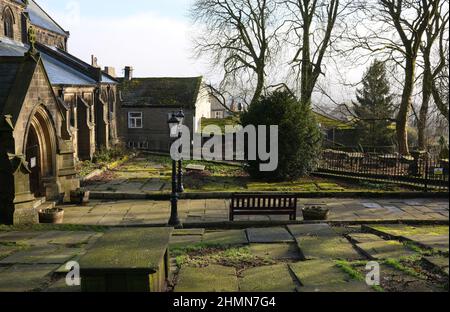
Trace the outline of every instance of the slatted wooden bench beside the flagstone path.
{"type": "Polygon", "coordinates": [[[297,219],[296,195],[233,194],[230,202],[230,221],[242,215],[289,215],[297,219]]]}

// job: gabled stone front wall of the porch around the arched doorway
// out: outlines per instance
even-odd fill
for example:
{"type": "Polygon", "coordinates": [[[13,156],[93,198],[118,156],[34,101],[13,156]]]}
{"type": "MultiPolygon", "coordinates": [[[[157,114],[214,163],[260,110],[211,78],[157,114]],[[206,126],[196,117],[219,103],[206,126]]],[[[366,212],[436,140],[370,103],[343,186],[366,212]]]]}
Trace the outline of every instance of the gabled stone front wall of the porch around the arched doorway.
{"type": "Polygon", "coordinates": [[[8,184],[13,185],[13,188],[8,190],[2,187],[0,192],[2,200],[5,199],[5,203],[0,206],[0,222],[7,224],[38,221],[36,208],[40,201],[30,191],[30,167],[26,162],[26,145],[31,128],[39,137],[38,168],[42,196],[47,200],[57,200],[61,196],[69,200],[70,191],[79,187],[73,145],[67,135],[62,135],[62,129],[67,131],[68,127],[63,118],[65,112],[57,104],[42,63],[39,62],[35,68],[25,99],[19,104],[17,110],[13,108],[10,112],[11,122],[3,121],[1,127],[2,142],[10,142],[5,146],[12,143],[8,147],[10,154],[5,153],[5,148],[0,150],[0,176],[5,180],[13,180],[13,183],[8,184]],[[7,125],[11,128],[9,131],[7,125]]]}

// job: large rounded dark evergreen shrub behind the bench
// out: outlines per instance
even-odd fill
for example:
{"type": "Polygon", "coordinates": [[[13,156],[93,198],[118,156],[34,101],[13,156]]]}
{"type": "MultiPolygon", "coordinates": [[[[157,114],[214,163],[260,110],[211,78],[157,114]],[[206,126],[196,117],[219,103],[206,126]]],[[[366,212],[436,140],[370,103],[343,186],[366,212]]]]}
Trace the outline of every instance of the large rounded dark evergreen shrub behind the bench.
{"type": "Polygon", "coordinates": [[[316,166],[322,135],[309,105],[302,105],[290,93],[274,92],[252,104],[241,117],[242,125],[278,125],[278,168],[259,171],[260,160],[248,162],[252,177],[293,180],[316,166]]]}

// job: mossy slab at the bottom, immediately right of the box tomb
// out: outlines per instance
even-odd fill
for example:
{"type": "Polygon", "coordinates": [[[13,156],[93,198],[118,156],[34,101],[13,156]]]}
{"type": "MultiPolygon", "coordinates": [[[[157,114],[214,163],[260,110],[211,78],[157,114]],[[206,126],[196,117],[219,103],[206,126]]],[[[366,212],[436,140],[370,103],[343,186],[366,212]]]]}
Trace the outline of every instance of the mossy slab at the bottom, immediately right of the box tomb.
{"type": "Polygon", "coordinates": [[[209,265],[203,268],[182,267],[175,292],[237,292],[238,279],[234,268],[209,265]]]}

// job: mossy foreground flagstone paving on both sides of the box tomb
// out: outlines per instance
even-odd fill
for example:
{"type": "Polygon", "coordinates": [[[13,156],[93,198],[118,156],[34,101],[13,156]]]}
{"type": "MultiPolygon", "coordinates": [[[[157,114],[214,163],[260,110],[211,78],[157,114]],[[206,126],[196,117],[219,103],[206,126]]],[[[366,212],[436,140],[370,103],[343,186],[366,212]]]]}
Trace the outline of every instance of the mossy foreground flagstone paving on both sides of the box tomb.
{"type": "MultiPolygon", "coordinates": [[[[430,241],[442,238],[443,233],[448,233],[448,226],[376,226],[378,231],[390,231],[399,239],[374,234],[379,233],[374,229],[367,233],[372,227],[375,226],[330,227],[323,223],[242,230],[175,230],[170,242],[173,257],[170,289],[176,292],[373,291],[361,282],[363,279],[356,279],[338,267],[337,260],[364,276],[365,263],[376,258],[381,259],[382,289],[386,291],[443,290],[440,283],[445,279],[448,283],[448,253],[431,251],[422,255],[410,250],[400,238],[413,235],[416,241],[430,241]],[[254,242],[258,240],[264,243],[254,242]],[[205,258],[211,252],[213,256],[205,258]],[[177,262],[178,256],[188,254],[196,260],[177,262]],[[409,255],[418,257],[402,262],[409,255]],[[407,271],[388,266],[382,260],[387,258],[403,266],[414,265],[411,270],[417,272],[426,270],[430,273],[421,274],[428,278],[411,276],[407,271]],[[436,276],[436,268],[443,273],[438,276],[440,279],[430,280],[436,276]]],[[[101,236],[102,232],[75,230],[0,231],[0,291],[80,291],[79,287],[65,285],[65,262],[89,252],[101,236]]]]}

